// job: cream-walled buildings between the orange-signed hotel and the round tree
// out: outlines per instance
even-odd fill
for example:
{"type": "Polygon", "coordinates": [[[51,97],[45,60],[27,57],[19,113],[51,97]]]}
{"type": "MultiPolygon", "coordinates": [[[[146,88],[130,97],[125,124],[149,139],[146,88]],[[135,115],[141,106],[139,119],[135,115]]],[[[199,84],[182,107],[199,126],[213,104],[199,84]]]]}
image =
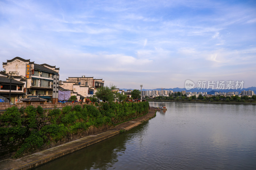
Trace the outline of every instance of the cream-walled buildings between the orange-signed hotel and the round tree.
{"type": "MultiPolygon", "coordinates": [[[[60,87],[77,92],[82,97],[91,97],[97,88],[104,86],[104,80],[94,79],[93,77],[68,77],[66,81],[60,81],[60,87]]],[[[82,98],[80,98],[83,101],[82,98]]]]}

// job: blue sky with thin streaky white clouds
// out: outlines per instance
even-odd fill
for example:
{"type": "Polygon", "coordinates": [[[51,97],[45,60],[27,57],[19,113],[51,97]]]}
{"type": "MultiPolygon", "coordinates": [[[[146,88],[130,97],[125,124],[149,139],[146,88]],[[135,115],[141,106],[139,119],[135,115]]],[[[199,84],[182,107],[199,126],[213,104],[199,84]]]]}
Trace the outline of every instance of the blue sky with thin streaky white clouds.
{"type": "MultiPolygon", "coordinates": [[[[60,68],[117,88],[187,79],[256,86],[254,0],[0,0],[0,62],[60,68]]],[[[3,69],[4,70],[4,69],[3,69]]]]}

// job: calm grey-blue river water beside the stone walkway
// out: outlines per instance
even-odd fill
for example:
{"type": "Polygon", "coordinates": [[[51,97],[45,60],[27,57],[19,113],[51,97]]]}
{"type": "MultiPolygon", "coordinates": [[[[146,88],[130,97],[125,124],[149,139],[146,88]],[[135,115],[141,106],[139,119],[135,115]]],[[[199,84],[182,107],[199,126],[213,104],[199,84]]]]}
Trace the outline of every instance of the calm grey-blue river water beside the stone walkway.
{"type": "Polygon", "coordinates": [[[165,113],[36,169],[256,169],[256,105],[165,104],[165,113]]]}

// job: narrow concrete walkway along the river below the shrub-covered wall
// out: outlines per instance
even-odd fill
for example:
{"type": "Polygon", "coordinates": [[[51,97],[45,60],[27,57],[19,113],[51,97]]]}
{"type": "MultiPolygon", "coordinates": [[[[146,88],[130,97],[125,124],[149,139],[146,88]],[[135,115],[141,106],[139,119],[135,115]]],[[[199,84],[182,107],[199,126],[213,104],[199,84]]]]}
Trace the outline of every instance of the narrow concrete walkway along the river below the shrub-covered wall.
{"type": "Polygon", "coordinates": [[[128,122],[121,123],[115,126],[112,129],[109,129],[105,132],[99,133],[97,135],[91,135],[87,137],[83,137],[81,139],[77,139],[66,144],[62,144],[41,152],[36,152],[32,155],[25,156],[20,159],[6,159],[0,161],[0,169],[1,170],[25,170],[34,168],[36,166],[47,163],[51,160],[60,158],[69,153],[75,152],[92,144],[96,144],[100,141],[103,141],[107,138],[113,137],[119,134],[120,129],[132,129],[133,127],[138,126],[143,121],[146,121],[155,116],[156,110],[153,107],[150,107],[147,115],[141,116],[137,119],[133,119],[128,122]]]}

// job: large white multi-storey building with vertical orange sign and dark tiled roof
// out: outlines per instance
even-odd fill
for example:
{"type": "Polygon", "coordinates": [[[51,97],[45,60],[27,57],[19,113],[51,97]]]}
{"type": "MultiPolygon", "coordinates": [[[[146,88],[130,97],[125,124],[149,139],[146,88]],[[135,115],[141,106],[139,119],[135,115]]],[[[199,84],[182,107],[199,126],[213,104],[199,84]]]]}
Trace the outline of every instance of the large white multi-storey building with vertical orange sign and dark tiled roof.
{"type": "Polygon", "coordinates": [[[48,64],[36,64],[30,62],[30,59],[25,60],[20,57],[7,60],[6,63],[3,63],[3,68],[6,73],[12,71],[14,76],[25,78],[24,93],[26,97],[40,94],[41,98],[52,101],[53,75],[59,74],[59,68],[48,64]]]}

